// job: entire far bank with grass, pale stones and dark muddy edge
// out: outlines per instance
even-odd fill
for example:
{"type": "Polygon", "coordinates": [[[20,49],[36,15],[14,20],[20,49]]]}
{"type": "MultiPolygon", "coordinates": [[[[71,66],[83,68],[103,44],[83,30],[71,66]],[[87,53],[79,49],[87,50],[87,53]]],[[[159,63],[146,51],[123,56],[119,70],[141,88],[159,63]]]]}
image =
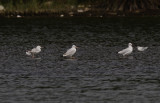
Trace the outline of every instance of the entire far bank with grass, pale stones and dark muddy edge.
{"type": "Polygon", "coordinates": [[[1,15],[160,14],[160,0],[0,0],[0,5],[1,15]]]}

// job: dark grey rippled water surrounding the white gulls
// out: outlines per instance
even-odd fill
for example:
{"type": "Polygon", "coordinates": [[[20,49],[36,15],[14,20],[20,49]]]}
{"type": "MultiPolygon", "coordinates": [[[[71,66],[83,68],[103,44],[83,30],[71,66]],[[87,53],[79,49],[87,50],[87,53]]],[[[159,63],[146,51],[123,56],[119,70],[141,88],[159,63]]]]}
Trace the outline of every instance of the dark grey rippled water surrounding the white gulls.
{"type": "Polygon", "coordinates": [[[158,17],[0,19],[0,101],[160,103],[159,44],[158,17]],[[122,58],[129,42],[149,49],[122,58]],[[37,45],[40,59],[25,55],[37,45]]]}

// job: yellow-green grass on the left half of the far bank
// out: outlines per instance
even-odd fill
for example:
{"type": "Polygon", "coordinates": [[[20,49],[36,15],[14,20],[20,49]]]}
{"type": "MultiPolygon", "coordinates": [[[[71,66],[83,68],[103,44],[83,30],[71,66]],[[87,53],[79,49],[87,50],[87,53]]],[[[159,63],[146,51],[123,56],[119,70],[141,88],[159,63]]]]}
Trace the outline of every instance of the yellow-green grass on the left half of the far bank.
{"type": "Polygon", "coordinates": [[[77,0],[1,0],[6,12],[66,11],[77,0]]]}

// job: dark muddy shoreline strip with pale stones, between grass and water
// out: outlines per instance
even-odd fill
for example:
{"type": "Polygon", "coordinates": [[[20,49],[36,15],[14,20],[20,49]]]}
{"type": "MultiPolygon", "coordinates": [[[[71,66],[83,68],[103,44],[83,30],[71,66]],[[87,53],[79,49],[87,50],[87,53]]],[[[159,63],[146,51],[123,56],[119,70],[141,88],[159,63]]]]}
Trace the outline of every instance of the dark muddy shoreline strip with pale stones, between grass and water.
{"type": "Polygon", "coordinates": [[[88,11],[61,11],[61,12],[0,12],[0,17],[21,18],[21,17],[128,17],[128,16],[160,16],[160,10],[146,10],[136,12],[88,10],[88,11]]]}

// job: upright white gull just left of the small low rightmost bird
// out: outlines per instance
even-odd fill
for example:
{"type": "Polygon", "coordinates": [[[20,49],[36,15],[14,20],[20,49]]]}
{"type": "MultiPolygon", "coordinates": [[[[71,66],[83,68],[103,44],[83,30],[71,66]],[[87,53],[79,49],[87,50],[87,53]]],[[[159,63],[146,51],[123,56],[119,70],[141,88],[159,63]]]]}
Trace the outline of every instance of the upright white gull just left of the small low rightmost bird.
{"type": "Polygon", "coordinates": [[[118,52],[118,54],[122,54],[123,56],[131,54],[133,51],[132,43],[128,43],[128,48],[123,49],[118,52]]]}

